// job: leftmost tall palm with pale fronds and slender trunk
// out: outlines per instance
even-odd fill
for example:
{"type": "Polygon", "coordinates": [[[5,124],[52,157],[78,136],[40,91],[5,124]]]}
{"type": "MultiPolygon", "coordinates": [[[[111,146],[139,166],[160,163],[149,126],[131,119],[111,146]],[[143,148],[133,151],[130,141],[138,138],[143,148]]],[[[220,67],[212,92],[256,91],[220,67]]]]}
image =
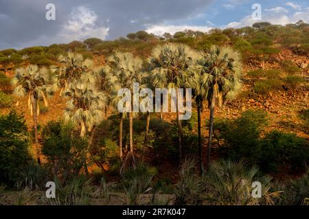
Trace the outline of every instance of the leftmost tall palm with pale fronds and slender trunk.
{"type": "Polygon", "coordinates": [[[39,114],[38,101],[43,99],[47,105],[47,94],[54,92],[54,79],[49,74],[47,68],[38,68],[36,65],[30,65],[25,68],[16,69],[15,77],[12,83],[16,88],[14,94],[16,96],[28,96],[28,108],[33,117],[34,124],[34,143],[36,158],[40,162],[38,146],[38,125],[37,117],[39,114]]]}

